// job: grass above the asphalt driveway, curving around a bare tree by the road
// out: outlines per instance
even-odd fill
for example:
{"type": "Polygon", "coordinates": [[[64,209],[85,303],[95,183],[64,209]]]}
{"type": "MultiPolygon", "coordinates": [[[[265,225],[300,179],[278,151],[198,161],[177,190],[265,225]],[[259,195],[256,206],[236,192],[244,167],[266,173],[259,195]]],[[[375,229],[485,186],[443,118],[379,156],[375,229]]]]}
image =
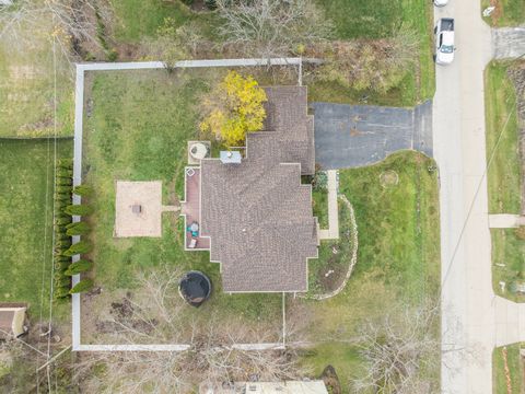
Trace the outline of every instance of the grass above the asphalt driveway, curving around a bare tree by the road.
{"type": "Polygon", "coordinates": [[[385,94],[360,92],[337,83],[314,82],[310,85],[310,101],[350,104],[413,106],[431,99],[435,91],[432,59],[432,2],[425,0],[331,0],[319,1],[334,21],[336,39],[381,38],[393,34],[401,25],[413,28],[420,36],[417,67],[407,70],[401,83],[385,94]],[[362,97],[366,95],[366,103],[362,97]]]}

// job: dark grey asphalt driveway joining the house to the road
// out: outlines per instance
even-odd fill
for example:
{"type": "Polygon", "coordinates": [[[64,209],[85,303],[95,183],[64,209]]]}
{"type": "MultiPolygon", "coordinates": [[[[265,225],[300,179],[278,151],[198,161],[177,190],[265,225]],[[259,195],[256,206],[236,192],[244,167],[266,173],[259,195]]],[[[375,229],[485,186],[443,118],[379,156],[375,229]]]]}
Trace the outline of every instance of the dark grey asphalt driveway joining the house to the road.
{"type": "Polygon", "coordinates": [[[402,149],[432,157],[432,102],[416,108],[313,103],[315,159],[325,170],[369,165],[402,149]]]}

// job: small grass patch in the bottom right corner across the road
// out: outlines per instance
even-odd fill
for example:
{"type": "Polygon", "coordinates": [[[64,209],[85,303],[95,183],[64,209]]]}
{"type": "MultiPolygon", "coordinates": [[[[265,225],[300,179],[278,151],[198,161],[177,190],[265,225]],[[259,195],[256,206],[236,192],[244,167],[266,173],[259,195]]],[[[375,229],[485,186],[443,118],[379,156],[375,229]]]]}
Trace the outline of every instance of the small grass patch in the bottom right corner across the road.
{"type": "Polygon", "coordinates": [[[509,345],[506,347],[495,348],[492,354],[492,376],[493,394],[522,393],[523,384],[523,361],[520,356],[520,344],[509,345]],[[511,387],[508,387],[508,376],[505,373],[505,362],[503,349],[506,348],[506,366],[509,368],[511,387]]]}

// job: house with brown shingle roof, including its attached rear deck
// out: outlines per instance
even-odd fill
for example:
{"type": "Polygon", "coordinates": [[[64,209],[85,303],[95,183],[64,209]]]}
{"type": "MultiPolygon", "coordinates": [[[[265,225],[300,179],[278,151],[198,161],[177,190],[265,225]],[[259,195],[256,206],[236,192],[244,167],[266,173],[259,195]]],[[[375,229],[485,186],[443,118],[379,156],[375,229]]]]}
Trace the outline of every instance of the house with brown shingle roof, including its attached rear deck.
{"type": "Polygon", "coordinates": [[[210,251],[226,292],[306,291],[307,260],[317,258],[312,187],[301,183],[315,172],[307,91],[265,90],[265,127],[247,135],[244,154],[221,152],[186,167],[182,215],[198,229],[188,231],[186,248],[210,251]]]}

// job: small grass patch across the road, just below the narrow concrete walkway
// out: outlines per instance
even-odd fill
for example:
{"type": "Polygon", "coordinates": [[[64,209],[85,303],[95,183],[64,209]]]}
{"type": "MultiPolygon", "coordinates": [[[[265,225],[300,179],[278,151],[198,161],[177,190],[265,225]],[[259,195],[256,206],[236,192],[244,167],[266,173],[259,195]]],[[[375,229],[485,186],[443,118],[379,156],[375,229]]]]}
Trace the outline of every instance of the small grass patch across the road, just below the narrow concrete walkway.
{"type": "Polygon", "coordinates": [[[525,241],[516,236],[514,229],[491,229],[490,234],[494,292],[516,302],[525,302],[525,294],[511,291],[513,282],[525,285],[525,241]],[[505,282],[504,292],[501,291],[500,281],[505,282]]]}

